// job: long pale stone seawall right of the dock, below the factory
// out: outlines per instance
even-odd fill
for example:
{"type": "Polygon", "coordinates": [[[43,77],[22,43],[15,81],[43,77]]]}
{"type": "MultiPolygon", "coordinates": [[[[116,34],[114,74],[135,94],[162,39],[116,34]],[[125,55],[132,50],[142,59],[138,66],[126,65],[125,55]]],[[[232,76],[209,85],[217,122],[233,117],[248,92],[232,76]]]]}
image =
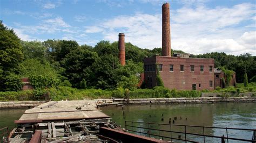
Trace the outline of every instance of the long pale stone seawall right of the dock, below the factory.
{"type": "Polygon", "coordinates": [[[143,99],[98,99],[98,106],[117,104],[199,104],[256,102],[256,97],[199,97],[199,98],[143,98],[143,99]]]}

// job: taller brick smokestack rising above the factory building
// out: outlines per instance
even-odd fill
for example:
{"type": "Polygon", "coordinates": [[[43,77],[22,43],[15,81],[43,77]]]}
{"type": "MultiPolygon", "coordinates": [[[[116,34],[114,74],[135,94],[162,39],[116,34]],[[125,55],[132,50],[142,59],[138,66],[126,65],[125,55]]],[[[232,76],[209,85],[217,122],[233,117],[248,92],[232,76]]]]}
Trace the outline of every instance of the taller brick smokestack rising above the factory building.
{"type": "Polygon", "coordinates": [[[171,56],[170,4],[162,5],[162,55],[171,56]]]}

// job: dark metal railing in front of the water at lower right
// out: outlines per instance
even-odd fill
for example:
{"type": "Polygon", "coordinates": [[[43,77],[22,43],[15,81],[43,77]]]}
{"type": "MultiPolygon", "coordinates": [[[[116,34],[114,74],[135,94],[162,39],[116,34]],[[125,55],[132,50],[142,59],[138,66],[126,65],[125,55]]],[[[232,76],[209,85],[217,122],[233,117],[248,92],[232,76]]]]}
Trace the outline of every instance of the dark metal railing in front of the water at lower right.
{"type": "MultiPolygon", "coordinates": [[[[126,131],[128,131],[128,132],[135,132],[135,133],[145,134],[145,135],[148,135],[148,137],[159,137],[163,140],[164,140],[164,138],[167,138],[167,139],[171,139],[171,140],[174,139],[174,140],[181,140],[181,141],[185,141],[185,142],[187,142],[187,141],[188,142],[197,142],[197,141],[193,141],[193,140],[188,140],[188,137],[187,137],[187,135],[195,135],[197,137],[203,137],[204,142],[206,141],[205,137],[210,137],[210,138],[221,139],[221,142],[225,142],[225,139],[226,139],[227,142],[228,142],[228,140],[238,140],[238,141],[247,141],[247,142],[255,142],[256,143],[256,129],[248,129],[248,128],[193,126],[193,125],[179,125],[179,124],[174,125],[174,124],[146,123],[146,122],[139,122],[139,121],[125,121],[125,128],[126,128],[126,131]],[[134,125],[135,123],[137,125],[138,124],[139,125],[136,126],[136,125],[134,125]],[[143,126],[141,126],[141,125],[143,125],[143,126]],[[151,127],[151,125],[157,125],[158,128],[157,127],[153,128],[153,127],[151,127]],[[160,126],[170,127],[170,130],[163,130],[163,129],[160,128],[160,126]],[[183,131],[173,130],[174,127],[180,127],[179,129],[183,130],[183,131]],[[201,128],[201,130],[203,130],[203,134],[187,132],[188,127],[201,128]],[[206,134],[205,129],[207,129],[207,128],[223,129],[226,132],[226,137],[225,137],[224,134],[221,135],[221,136],[206,134]],[[141,131],[142,129],[146,132],[141,131]],[[252,140],[228,137],[228,131],[230,131],[230,130],[251,131],[252,132],[252,140]],[[152,132],[154,132],[154,133],[152,133],[152,132]],[[157,132],[158,132],[158,134],[156,134],[157,132]],[[166,135],[160,134],[160,132],[170,133],[170,135],[166,136],[166,135]],[[185,139],[182,139],[180,135],[179,135],[178,138],[173,138],[172,133],[184,134],[185,139]]],[[[232,133],[232,132],[230,132],[230,133],[232,133]]]]}

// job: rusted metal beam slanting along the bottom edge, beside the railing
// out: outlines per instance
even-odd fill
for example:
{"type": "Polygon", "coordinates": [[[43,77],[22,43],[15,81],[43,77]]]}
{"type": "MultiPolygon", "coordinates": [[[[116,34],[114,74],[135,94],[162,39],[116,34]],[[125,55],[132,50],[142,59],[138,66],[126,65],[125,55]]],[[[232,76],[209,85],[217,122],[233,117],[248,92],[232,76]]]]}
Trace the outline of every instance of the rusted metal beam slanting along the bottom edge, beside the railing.
{"type": "Polygon", "coordinates": [[[143,137],[141,135],[127,133],[124,131],[118,131],[107,127],[100,127],[99,134],[122,142],[167,142],[164,140],[143,137]]]}

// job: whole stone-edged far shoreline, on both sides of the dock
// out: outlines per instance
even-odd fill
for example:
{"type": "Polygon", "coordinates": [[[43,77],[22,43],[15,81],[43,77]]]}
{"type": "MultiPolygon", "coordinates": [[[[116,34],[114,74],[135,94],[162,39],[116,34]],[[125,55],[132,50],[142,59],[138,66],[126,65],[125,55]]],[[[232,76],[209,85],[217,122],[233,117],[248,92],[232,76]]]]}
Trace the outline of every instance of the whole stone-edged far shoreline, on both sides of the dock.
{"type": "MultiPolygon", "coordinates": [[[[89,99],[96,102],[97,107],[111,105],[139,105],[139,104],[204,104],[204,103],[233,103],[256,102],[256,97],[196,97],[196,98],[113,98],[89,99]]],[[[33,108],[46,101],[10,101],[0,102],[0,109],[33,108]]]]}

